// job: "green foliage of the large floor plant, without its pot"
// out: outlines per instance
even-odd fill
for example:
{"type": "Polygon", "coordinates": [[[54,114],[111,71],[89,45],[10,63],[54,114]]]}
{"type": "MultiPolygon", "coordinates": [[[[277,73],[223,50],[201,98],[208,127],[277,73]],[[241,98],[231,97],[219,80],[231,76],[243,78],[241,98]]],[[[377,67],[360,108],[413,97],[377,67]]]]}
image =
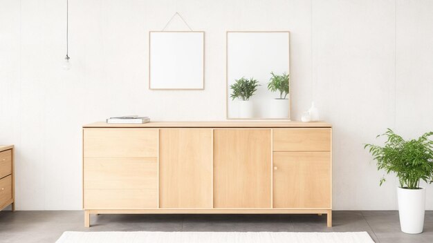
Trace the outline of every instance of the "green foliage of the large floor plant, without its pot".
{"type": "MultiPolygon", "coordinates": [[[[401,188],[419,189],[419,182],[433,182],[433,141],[429,137],[433,132],[425,133],[418,139],[406,141],[391,129],[377,137],[385,136],[385,146],[365,144],[377,161],[378,170],[387,174],[395,173],[401,188]]],[[[380,179],[380,186],[385,177],[380,179]]]]}

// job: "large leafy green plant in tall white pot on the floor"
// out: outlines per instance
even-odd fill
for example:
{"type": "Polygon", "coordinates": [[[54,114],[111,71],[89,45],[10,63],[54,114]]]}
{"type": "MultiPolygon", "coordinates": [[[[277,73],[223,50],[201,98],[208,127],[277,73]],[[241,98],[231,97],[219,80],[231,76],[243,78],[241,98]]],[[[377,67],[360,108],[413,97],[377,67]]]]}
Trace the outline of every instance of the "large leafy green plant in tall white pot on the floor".
{"type": "MultiPolygon", "coordinates": [[[[433,141],[425,133],[418,139],[405,140],[391,129],[378,135],[387,138],[384,146],[366,144],[377,161],[378,170],[394,173],[399,182],[397,188],[398,214],[401,231],[409,234],[423,232],[425,213],[425,188],[419,182],[432,183],[433,180],[433,141]]],[[[380,179],[380,185],[385,178],[380,179]]]]}

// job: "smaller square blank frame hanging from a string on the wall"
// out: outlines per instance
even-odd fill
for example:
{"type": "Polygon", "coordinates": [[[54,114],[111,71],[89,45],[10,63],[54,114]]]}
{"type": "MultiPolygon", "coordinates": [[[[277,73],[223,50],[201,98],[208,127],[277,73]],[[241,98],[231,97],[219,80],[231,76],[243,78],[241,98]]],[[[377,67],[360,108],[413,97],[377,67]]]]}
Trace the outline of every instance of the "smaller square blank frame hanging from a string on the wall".
{"type": "Polygon", "coordinates": [[[149,32],[149,89],[204,88],[203,31],[149,32]]]}

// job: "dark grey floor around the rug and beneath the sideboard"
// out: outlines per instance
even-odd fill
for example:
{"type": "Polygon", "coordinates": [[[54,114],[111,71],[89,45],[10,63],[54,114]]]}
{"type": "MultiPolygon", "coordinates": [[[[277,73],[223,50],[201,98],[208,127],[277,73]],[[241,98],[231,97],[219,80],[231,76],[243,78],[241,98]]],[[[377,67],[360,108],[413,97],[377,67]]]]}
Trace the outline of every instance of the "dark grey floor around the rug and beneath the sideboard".
{"type": "Polygon", "coordinates": [[[433,211],[424,233],[400,232],[397,211],[334,211],[326,215],[98,215],[84,228],[82,211],[0,212],[0,242],[55,242],[64,231],[367,231],[375,242],[433,242],[433,211]]]}

